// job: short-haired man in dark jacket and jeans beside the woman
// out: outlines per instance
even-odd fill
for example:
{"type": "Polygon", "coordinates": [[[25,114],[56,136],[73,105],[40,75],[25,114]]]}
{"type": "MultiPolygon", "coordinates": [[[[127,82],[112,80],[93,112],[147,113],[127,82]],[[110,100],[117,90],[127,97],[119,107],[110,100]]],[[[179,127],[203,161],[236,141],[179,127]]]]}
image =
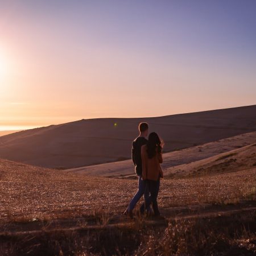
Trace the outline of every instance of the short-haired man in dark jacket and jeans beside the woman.
{"type": "MultiPolygon", "coordinates": [[[[139,123],[139,136],[133,141],[133,146],[131,148],[131,158],[135,166],[135,172],[138,176],[138,191],[131,199],[129,206],[125,210],[125,214],[129,214],[133,218],[133,209],[138,203],[139,199],[144,195],[146,181],[142,180],[142,160],[141,160],[141,147],[147,144],[147,134],[148,134],[148,124],[139,123]]],[[[144,195],[148,197],[148,195],[144,195]]],[[[143,205],[144,206],[144,205],[143,205]]],[[[141,207],[141,212],[144,211],[144,207],[141,207]]]]}

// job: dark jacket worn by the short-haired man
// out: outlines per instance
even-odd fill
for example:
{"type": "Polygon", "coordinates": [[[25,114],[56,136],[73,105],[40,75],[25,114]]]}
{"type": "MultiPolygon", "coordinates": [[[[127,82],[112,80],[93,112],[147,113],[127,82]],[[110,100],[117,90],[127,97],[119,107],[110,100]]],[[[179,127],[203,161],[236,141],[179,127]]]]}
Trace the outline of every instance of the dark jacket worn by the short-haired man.
{"type": "Polygon", "coordinates": [[[135,166],[135,172],[137,175],[142,175],[142,160],[141,160],[141,147],[147,144],[147,139],[144,137],[137,137],[133,141],[133,147],[131,148],[131,158],[135,166]]]}

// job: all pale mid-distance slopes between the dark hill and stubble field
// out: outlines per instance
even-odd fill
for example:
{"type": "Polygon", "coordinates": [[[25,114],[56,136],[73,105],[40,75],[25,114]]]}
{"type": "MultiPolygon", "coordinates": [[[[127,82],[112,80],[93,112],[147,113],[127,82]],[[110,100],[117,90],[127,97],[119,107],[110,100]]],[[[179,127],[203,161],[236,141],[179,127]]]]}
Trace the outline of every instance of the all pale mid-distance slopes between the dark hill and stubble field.
{"type": "MultiPolygon", "coordinates": [[[[230,162],[230,166],[229,164],[224,164],[226,167],[229,167],[229,170],[234,167],[234,164],[236,164],[233,168],[234,171],[248,168],[248,166],[251,167],[256,163],[256,154],[253,154],[256,151],[256,148],[250,145],[254,145],[255,143],[256,131],[253,133],[240,134],[234,137],[221,139],[215,142],[201,144],[200,146],[167,152],[163,154],[164,161],[162,167],[164,175],[167,174],[168,177],[191,176],[189,170],[193,169],[192,171],[197,171],[196,168],[201,167],[203,163],[208,163],[208,159],[210,159],[209,162],[212,164],[212,166],[207,166],[207,170],[210,172],[210,168],[215,164],[214,160],[223,157],[222,162],[225,162],[225,160],[229,160],[228,157],[225,159],[225,156],[229,154],[231,154],[230,156],[233,154],[237,155],[236,158],[240,158],[240,156],[242,156],[242,158],[235,163],[230,162]],[[238,163],[240,166],[237,166],[238,163]]],[[[218,169],[224,168],[224,166],[221,166],[220,162],[218,162],[218,164],[218,169]]],[[[254,167],[256,168],[256,166],[254,167]]],[[[224,170],[226,169],[224,168],[224,170]]],[[[205,173],[205,171],[206,170],[203,168],[201,170],[201,174],[205,173]]],[[[64,172],[105,177],[135,176],[131,160],[72,168],[65,170],[64,172]]],[[[196,172],[196,175],[199,174],[200,173],[196,172]]]]}

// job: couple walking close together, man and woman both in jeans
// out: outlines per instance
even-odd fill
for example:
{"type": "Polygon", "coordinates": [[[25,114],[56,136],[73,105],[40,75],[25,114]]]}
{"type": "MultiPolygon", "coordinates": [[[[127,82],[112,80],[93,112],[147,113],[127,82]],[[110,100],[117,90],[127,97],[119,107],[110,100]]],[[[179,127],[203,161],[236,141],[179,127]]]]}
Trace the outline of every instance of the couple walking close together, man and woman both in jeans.
{"type": "Polygon", "coordinates": [[[160,177],[163,178],[163,171],[160,163],[163,163],[162,147],[163,142],[158,134],[150,133],[148,140],[148,124],[139,123],[139,137],[133,141],[131,155],[135,166],[135,172],[138,176],[138,191],[131,199],[125,214],[133,218],[133,209],[139,199],[144,195],[144,203],[141,205],[141,213],[145,209],[147,214],[153,214],[150,205],[154,209],[154,215],[159,216],[158,192],[160,186],[160,177]]]}

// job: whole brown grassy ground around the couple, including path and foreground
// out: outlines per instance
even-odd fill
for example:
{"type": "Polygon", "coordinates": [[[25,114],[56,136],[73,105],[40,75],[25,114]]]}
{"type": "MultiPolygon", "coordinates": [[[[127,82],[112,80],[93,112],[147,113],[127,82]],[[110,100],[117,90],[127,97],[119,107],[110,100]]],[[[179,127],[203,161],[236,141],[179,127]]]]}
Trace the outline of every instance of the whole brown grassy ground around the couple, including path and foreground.
{"type": "Polygon", "coordinates": [[[137,190],[134,179],[2,159],[0,254],[253,255],[255,174],[251,164],[213,175],[167,175],[159,193],[162,218],[135,214],[130,220],[122,212],[137,190]]]}

